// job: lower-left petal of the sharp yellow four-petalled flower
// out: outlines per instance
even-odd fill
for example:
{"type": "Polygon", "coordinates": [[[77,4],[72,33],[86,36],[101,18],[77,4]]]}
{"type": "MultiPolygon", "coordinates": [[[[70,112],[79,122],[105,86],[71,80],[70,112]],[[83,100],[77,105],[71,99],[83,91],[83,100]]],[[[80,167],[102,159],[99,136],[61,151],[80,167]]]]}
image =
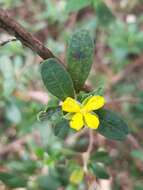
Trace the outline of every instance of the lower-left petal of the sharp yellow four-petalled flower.
{"type": "Polygon", "coordinates": [[[76,113],[70,121],[70,127],[79,131],[83,127],[83,125],[83,115],[81,113],[76,113]]]}

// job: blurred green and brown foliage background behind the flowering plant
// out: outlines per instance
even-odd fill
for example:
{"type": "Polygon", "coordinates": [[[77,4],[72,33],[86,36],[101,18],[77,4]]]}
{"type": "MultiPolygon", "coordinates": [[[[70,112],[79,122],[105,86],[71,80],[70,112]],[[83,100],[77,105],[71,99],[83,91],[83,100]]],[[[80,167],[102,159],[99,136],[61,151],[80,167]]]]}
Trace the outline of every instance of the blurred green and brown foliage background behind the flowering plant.
{"type": "MultiPolygon", "coordinates": [[[[73,31],[91,32],[96,48],[87,84],[104,89],[107,107],[124,116],[131,132],[124,142],[96,136],[92,161],[103,162],[111,176],[99,179],[98,188],[143,190],[143,1],[100,2],[0,0],[0,6],[62,61],[73,31]]],[[[0,42],[7,39],[0,29],[0,42]]],[[[76,154],[85,151],[87,136],[73,153],[37,120],[50,99],[41,61],[19,41],[0,46],[0,190],[84,190],[85,181],[75,185],[69,176],[80,166],[76,154]]]]}

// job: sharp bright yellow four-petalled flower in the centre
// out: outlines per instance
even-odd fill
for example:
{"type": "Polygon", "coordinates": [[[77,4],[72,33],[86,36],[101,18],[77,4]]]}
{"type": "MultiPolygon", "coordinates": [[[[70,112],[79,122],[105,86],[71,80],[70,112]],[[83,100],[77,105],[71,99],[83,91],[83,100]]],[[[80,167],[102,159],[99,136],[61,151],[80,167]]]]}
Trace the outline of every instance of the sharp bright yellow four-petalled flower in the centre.
{"type": "Polygon", "coordinates": [[[80,130],[84,125],[92,129],[97,129],[99,126],[99,118],[92,111],[98,110],[105,104],[103,96],[91,96],[85,103],[80,104],[73,98],[66,98],[62,103],[62,110],[73,113],[70,121],[70,127],[75,130],[80,130]]]}

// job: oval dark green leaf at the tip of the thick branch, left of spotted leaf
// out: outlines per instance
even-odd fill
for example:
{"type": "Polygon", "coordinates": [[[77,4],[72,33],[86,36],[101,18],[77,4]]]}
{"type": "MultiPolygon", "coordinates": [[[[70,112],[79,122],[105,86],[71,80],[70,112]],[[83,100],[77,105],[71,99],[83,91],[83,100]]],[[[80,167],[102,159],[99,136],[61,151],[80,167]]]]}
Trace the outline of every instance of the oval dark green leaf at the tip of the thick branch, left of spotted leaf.
{"type": "Polygon", "coordinates": [[[64,100],[74,97],[74,88],[70,75],[55,58],[43,61],[41,75],[44,85],[57,98],[64,100]]]}

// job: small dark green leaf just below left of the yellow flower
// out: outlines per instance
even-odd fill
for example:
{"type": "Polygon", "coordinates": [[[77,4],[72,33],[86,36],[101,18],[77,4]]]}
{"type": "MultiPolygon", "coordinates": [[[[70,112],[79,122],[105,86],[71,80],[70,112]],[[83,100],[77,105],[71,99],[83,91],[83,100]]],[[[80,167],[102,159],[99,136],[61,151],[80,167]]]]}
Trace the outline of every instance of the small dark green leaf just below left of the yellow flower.
{"type": "Polygon", "coordinates": [[[53,126],[54,135],[64,139],[69,134],[69,121],[66,119],[60,120],[57,124],[53,126]]]}

